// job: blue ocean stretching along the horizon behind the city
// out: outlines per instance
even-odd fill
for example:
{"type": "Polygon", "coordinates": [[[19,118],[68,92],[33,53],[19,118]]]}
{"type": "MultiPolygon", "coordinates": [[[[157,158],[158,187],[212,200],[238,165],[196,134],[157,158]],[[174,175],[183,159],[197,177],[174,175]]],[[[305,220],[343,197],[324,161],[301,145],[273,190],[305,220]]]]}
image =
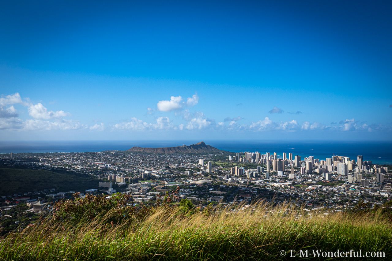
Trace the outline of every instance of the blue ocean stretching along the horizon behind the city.
{"type": "MultiPolygon", "coordinates": [[[[392,142],[386,141],[234,141],[234,140],[204,140],[221,150],[232,152],[276,152],[282,156],[283,152],[299,155],[302,158],[314,156],[314,158],[331,158],[333,154],[357,159],[358,155],[363,160],[371,160],[377,164],[392,164],[392,142]]],[[[140,147],[174,147],[191,145],[198,141],[176,140],[114,140],[114,141],[2,141],[0,153],[45,153],[45,152],[86,152],[104,150],[127,150],[133,146],[140,147]]]]}

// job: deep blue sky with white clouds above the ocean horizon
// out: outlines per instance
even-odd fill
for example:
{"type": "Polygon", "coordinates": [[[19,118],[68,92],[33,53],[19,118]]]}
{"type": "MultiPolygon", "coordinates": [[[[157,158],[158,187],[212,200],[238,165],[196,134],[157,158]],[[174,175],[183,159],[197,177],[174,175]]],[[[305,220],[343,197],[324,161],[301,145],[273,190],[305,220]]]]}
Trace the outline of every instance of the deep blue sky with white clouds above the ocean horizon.
{"type": "Polygon", "coordinates": [[[392,140],[390,1],[2,1],[1,140],[392,140]]]}

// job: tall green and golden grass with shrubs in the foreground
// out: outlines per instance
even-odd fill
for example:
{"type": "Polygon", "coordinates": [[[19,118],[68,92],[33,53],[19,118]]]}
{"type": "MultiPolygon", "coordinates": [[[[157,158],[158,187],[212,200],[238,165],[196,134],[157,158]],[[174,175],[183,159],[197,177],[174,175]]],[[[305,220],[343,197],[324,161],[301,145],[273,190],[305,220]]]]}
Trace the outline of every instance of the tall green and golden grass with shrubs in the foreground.
{"type": "Polygon", "coordinates": [[[290,249],[385,252],[378,260],[392,255],[392,227],[381,210],[325,215],[325,210],[264,202],[200,210],[187,200],[171,205],[173,198],[149,207],[129,206],[131,198],[124,195],[60,202],[46,219],[4,237],[0,256],[15,261],[289,260],[279,252],[290,249]]]}

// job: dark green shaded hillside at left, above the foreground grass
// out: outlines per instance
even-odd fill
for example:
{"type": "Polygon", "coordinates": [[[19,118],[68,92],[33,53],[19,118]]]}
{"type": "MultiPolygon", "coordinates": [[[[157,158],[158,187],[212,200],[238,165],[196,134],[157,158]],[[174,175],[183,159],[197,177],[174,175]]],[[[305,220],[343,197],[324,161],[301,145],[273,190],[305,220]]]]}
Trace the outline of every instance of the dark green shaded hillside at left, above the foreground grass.
{"type": "Polygon", "coordinates": [[[98,188],[98,182],[88,174],[75,172],[0,168],[0,195],[4,196],[45,188],[55,188],[56,192],[83,191],[98,188]]]}

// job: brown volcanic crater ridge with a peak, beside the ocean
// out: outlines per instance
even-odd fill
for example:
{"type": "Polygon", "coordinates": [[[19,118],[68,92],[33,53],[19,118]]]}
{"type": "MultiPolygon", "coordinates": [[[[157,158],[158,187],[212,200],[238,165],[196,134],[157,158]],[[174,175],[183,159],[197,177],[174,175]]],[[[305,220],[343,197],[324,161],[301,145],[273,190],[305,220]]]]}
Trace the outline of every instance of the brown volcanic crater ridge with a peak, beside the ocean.
{"type": "Polygon", "coordinates": [[[166,147],[166,148],[142,148],[132,147],[127,150],[129,152],[147,152],[147,153],[162,153],[162,154],[185,154],[185,153],[209,153],[209,152],[224,152],[224,150],[216,149],[210,145],[206,145],[204,141],[192,144],[189,146],[177,146],[177,147],[166,147]]]}

